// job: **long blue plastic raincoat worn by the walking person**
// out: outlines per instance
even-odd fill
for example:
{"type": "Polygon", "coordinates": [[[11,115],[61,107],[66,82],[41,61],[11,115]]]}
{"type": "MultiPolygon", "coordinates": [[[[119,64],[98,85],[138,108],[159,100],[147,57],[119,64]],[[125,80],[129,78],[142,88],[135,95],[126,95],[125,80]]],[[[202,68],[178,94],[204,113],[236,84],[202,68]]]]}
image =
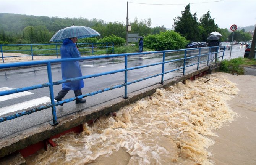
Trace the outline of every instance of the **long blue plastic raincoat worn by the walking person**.
{"type": "MultiPolygon", "coordinates": [[[[60,48],[61,58],[78,58],[81,57],[75,43],[71,39],[63,40],[63,45],[60,48]]],[[[62,62],[62,79],[81,77],[81,69],[79,61],[62,62]]],[[[78,80],[75,82],[62,83],[62,89],[79,90],[84,87],[84,81],[78,80]]]]}

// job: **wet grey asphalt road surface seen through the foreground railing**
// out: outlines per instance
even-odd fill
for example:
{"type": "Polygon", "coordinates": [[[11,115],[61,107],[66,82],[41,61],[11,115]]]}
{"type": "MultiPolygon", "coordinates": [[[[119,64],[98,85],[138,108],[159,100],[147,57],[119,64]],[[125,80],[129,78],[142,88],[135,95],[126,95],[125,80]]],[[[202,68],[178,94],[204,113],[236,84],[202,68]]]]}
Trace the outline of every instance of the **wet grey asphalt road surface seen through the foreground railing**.
{"type": "MultiPolygon", "coordinates": [[[[240,45],[234,45],[232,48],[231,58],[243,57],[245,48],[240,45]]],[[[207,52],[207,51],[206,51],[207,52]]],[[[190,54],[196,54],[196,51],[188,51],[188,56],[190,54]]],[[[202,53],[202,52],[201,52],[202,53]]],[[[128,59],[128,67],[141,66],[146,64],[151,64],[155,62],[162,61],[162,55],[146,55],[146,56],[134,56],[128,59]]],[[[182,58],[183,53],[181,54],[166,54],[165,60],[182,58]]],[[[224,59],[230,58],[230,50],[225,50],[224,59]]],[[[197,59],[194,59],[197,60],[197,59]]],[[[203,60],[203,59],[201,59],[203,60]]],[[[188,60],[187,64],[190,64],[192,61],[188,60]]],[[[96,61],[84,61],[81,62],[81,70],[83,75],[96,74],[100,72],[106,72],[110,70],[123,69],[123,58],[115,58],[115,59],[104,59],[104,60],[96,60],[96,61]]],[[[201,66],[206,65],[206,63],[201,64],[201,66]]],[[[177,67],[183,66],[182,62],[172,62],[171,64],[165,64],[165,71],[171,70],[177,67]]],[[[128,72],[128,81],[137,80],[142,77],[147,77],[149,75],[154,75],[160,73],[162,70],[162,66],[151,66],[143,69],[131,70],[128,72]]],[[[177,75],[182,75],[182,70],[177,70],[175,72],[169,73],[165,75],[165,80],[175,77],[177,75]]],[[[60,65],[55,65],[52,67],[52,76],[53,81],[62,80],[61,77],[61,68],[60,65]]],[[[133,91],[148,87],[150,85],[160,83],[161,77],[154,77],[149,80],[145,80],[142,82],[134,83],[128,85],[128,93],[133,91]]],[[[0,72],[0,84],[1,87],[11,87],[11,88],[21,88],[28,87],[31,85],[37,85],[48,82],[47,78],[47,69],[46,67],[31,67],[26,69],[19,70],[6,70],[0,72]]],[[[85,87],[82,89],[82,93],[89,93],[92,91],[100,90],[102,88],[107,88],[113,85],[121,84],[124,82],[124,74],[117,73],[112,75],[105,75],[102,77],[89,78],[84,80],[85,87]]],[[[55,96],[58,91],[61,90],[61,85],[54,86],[55,96]]],[[[44,96],[49,97],[49,88],[41,88],[37,90],[31,90],[32,95],[23,96],[15,99],[8,99],[6,101],[0,102],[0,108],[4,108],[6,106],[10,106],[13,104],[19,104],[24,101],[29,101],[35,98],[41,98],[44,96]]],[[[87,107],[94,106],[99,103],[104,103],[109,101],[110,99],[122,97],[124,95],[124,88],[117,88],[111,91],[106,91],[104,93],[100,93],[94,96],[86,97],[87,102],[85,104],[75,104],[74,102],[66,103],[64,106],[57,106],[56,112],[57,117],[65,116],[68,114],[72,114],[74,112],[80,111],[81,109],[85,109],[87,107]]],[[[65,98],[73,97],[73,91],[69,91],[65,98]]],[[[11,113],[13,114],[13,113],[11,113]]],[[[5,116],[5,115],[3,115],[5,116]]],[[[3,117],[1,116],[1,117],[3,117]]],[[[24,115],[22,117],[5,121],[0,123],[0,138],[11,135],[12,133],[16,133],[21,130],[25,130],[27,128],[40,125],[45,122],[52,121],[52,112],[51,109],[45,109],[39,112],[35,112],[30,115],[24,115]]]]}

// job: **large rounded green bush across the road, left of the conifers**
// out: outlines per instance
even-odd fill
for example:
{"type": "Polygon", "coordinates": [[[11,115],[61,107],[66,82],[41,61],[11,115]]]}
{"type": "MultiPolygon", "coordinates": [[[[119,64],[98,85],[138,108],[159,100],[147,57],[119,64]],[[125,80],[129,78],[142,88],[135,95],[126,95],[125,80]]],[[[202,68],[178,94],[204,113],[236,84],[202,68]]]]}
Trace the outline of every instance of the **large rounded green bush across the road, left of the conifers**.
{"type": "Polygon", "coordinates": [[[148,35],[144,38],[144,46],[156,51],[183,49],[187,43],[188,40],[185,37],[173,30],[148,35]]]}

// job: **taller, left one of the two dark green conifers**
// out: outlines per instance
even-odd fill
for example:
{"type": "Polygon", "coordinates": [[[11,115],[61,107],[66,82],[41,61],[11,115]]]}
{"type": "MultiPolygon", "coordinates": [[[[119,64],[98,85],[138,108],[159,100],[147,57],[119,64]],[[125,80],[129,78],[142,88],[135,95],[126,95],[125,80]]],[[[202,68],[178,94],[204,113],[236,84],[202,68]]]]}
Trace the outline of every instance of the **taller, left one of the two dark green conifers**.
{"type": "Polygon", "coordinates": [[[176,19],[174,19],[173,28],[188,40],[198,40],[198,22],[196,13],[194,13],[194,15],[190,13],[190,4],[185,7],[184,11],[181,11],[181,16],[177,16],[176,19]]]}

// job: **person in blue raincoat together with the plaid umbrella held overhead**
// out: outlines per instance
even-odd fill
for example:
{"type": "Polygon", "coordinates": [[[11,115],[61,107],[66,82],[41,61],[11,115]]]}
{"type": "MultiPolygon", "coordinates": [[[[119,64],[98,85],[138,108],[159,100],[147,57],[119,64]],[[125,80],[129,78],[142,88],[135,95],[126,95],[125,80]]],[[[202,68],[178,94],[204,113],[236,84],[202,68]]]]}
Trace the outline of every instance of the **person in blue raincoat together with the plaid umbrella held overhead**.
{"type": "MultiPolygon", "coordinates": [[[[95,30],[85,27],[85,26],[71,26],[59,30],[50,41],[60,42],[63,41],[63,44],[60,48],[60,54],[62,59],[66,58],[79,58],[80,52],[76,46],[76,41],[78,38],[86,38],[100,35],[95,30]]],[[[66,61],[61,62],[62,69],[62,79],[70,79],[75,77],[81,77],[82,72],[79,66],[79,61],[66,61]]],[[[82,95],[82,88],[84,87],[83,80],[77,80],[72,82],[62,83],[62,90],[59,91],[58,96],[54,99],[58,102],[66,96],[68,91],[73,90],[75,97],[82,95]]],[[[85,103],[86,99],[76,98],[76,104],[85,103]]],[[[60,104],[61,106],[63,104],[60,104]]]]}

